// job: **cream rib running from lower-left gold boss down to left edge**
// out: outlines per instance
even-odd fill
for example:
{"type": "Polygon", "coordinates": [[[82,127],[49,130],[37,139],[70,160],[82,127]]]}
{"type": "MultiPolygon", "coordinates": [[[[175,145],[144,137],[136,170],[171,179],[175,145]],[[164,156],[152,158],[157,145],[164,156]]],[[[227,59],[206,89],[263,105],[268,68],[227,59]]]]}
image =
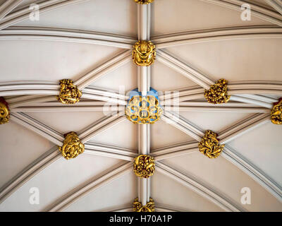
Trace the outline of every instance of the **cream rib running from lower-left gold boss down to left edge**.
{"type": "Polygon", "coordinates": [[[19,172],[15,177],[13,177],[8,183],[0,189],[0,203],[2,203],[8,196],[11,196],[20,186],[23,186],[25,182],[30,180],[36,174],[41,172],[44,168],[51,165],[52,162],[61,157],[61,153],[58,150],[58,147],[51,148],[43,155],[33,161],[30,165],[25,167],[21,172],[19,172]]]}

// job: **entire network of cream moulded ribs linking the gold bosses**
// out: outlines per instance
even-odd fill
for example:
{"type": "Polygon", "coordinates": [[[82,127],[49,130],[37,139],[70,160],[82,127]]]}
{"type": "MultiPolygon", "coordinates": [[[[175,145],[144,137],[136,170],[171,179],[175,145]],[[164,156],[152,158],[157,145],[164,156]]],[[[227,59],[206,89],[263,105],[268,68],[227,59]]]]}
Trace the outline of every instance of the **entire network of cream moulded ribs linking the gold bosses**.
{"type": "MultiPolygon", "coordinates": [[[[83,0],[63,0],[63,1],[39,1],[40,13],[44,13],[61,6],[69,4],[80,3],[83,0]]],[[[216,4],[227,8],[233,8],[240,11],[242,1],[237,0],[202,0],[210,4],[216,4]]],[[[247,1],[246,1],[247,2],[247,1]]],[[[266,2],[274,7],[276,11],[281,13],[281,3],[276,0],[266,0],[266,2]]],[[[282,201],[282,188],[273,179],[266,175],[262,170],[252,164],[245,157],[237,153],[228,142],[232,141],[243,133],[255,129],[257,126],[266,124],[270,120],[270,110],[273,108],[275,100],[272,97],[264,95],[277,95],[282,96],[282,83],[271,81],[240,81],[228,83],[228,95],[231,95],[231,100],[221,107],[213,105],[210,107],[207,102],[200,102],[197,99],[203,97],[204,90],[209,90],[214,81],[208,76],[200,73],[192,66],[183,63],[176,57],[171,56],[161,49],[166,47],[173,47],[180,44],[194,44],[200,42],[211,42],[215,40],[234,40],[234,39],[249,39],[249,38],[281,38],[282,30],[282,16],[279,13],[250,4],[252,6],[253,15],[263,20],[269,21],[274,25],[258,25],[258,26],[244,26],[233,28],[214,28],[209,30],[195,30],[188,32],[173,33],[169,35],[158,35],[150,38],[151,21],[151,4],[137,4],[137,37],[128,37],[124,35],[115,35],[103,32],[90,32],[85,30],[71,30],[63,28],[42,28],[42,27],[12,27],[11,25],[18,23],[28,18],[30,9],[28,6],[23,6],[19,10],[14,9],[21,1],[7,1],[0,6],[0,40],[49,40],[49,41],[63,41],[63,42],[81,42],[89,44],[101,44],[111,47],[118,47],[127,49],[125,52],[116,55],[105,61],[96,69],[80,76],[77,81],[73,83],[77,85],[79,90],[82,90],[82,100],[77,106],[64,107],[59,105],[56,101],[56,95],[59,94],[58,83],[44,83],[44,82],[5,82],[0,83],[0,96],[16,96],[8,97],[6,101],[11,109],[11,120],[25,126],[27,129],[47,138],[55,145],[63,145],[63,134],[51,129],[51,127],[43,124],[36,119],[28,116],[23,112],[49,112],[49,111],[75,111],[75,110],[96,110],[102,111],[104,103],[115,103],[120,106],[127,105],[128,96],[121,95],[115,92],[93,88],[90,85],[102,78],[107,73],[118,69],[119,67],[127,64],[132,59],[132,46],[137,40],[152,42],[157,48],[157,60],[164,63],[166,66],[183,74],[199,86],[195,88],[187,88],[180,90],[178,110],[180,111],[223,111],[223,112],[254,112],[252,116],[236,122],[228,129],[219,131],[218,138],[220,143],[226,146],[222,152],[222,157],[232,162],[236,167],[242,169],[252,179],[261,184],[267,191],[275,196],[279,201],[282,201]],[[137,40],[136,40],[137,38],[137,40]],[[129,50],[128,50],[129,49],[129,50]],[[38,96],[42,95],[42,96],[38,96]],[[188,100],[195,100],[191,102],[188,100]]],[[[146,95],[150,90],[151,68],[149,66],[137,66],[137,87],[142,95],[146,95]]],[[[171,96],[160,96],[161,105],[171,105],[171,96]]],[[[116,111],[116,109],[112,109],[116,111]]],[[[103,145],[92,143],[90,140],[97,136],[97,134],[111,128],[112,126],[124,121],[126,118],[121,115],[121,112],[110,114],[107,117],[95,121],[87,128],[78,132],[78,136],[82,143],[85,144],[85,153],[89,155],[101,155],[107,157],[114,157],[120,160],[127,160],[129,162],[116,167],[116,169],[109,169],[108,172],[98,178],[94,178],[91,182],[80,184],[78,189],[71,191],[71,194],[61,196],[61,198],[49,206],[46,210],[49,211],[62,211],[66,210],[79,198],[89,194],[99,187],[112,182],[114,179],[121,177],[132,171],[133,160],[137,153],[134,150],[120,148],[111,145],[103,145]]],[[[157,171],[166,174],[168,177],[175,179],[180,184],[192,189],[196,193],[204,196],[209,201],[212,201],[217,206],[226,211],[245,211],[245,209],[238,207],[237,203],[233,203],[228,198],[223,197],[218,191],[209,189],[204,183],[197,181],[188,174],[179,172],[168,165],[165,165],[161,160],[168,157],[176,157],[188,153],[198,151],[198,143],[204,136],[204,131],[194,124],[190,123],[187,119],[179,117],[173,112],[165,111],[161,119],[175,126],[180,131],[188,134],[196,141],[188,143],[180,143],[177,145],[170,145],[164,148],[152,150],[150,148],[150,124],[138,124],[138,153],[139,155],[151,155],[157,161],[157,171]]],[[[23,186],[29,179],[41,172],[44,168],[51,165],[51,163],[61,157],[58,147],[51,148],[44,155],[37,158],[29,166],[25,167],[23,171],[13,177],[7,184],[0,189],[0,203],[3,202],[8,196],[11,196],[20,186],[23,186]]],[[[146,206],[151,198],[151,178],[137,178],[137,194],[138,200],[142,206],[146,206]]],[[[169,208],[161,208],[156,204],[156,210],[170,210],[169,208]]],[[[175,208],[178,209],[178,208],[175,208]]],[[[125,207],[120,210],[128,210],[125,207]]]]}

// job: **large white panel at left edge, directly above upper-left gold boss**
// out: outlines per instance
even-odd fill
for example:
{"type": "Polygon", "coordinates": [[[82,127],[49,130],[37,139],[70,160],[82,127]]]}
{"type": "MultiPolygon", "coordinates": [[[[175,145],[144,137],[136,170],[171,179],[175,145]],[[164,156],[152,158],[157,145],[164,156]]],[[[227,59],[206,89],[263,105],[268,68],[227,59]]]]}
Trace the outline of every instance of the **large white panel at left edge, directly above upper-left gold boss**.
{"type": "Polygon", "coordinates": [[[75,80],[123,52],[115,47],[71,42],[1,41],[0,81],[75,80]]]}

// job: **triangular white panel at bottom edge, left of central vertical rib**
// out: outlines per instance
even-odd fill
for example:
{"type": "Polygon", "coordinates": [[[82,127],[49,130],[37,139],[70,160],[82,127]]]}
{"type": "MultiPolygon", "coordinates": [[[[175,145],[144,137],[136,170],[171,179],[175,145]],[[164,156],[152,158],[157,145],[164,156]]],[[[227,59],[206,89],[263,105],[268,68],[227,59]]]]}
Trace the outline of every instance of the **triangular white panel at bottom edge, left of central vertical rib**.
{"type": "Polygon", "coordinates": [[[133,171],[80,198],[66,211],[109,211],[125,206],[132,211],[132,202],[137,197],[136,176],[133,171]],[[113,190],[114,188],[114,190],[113,190]]]}

